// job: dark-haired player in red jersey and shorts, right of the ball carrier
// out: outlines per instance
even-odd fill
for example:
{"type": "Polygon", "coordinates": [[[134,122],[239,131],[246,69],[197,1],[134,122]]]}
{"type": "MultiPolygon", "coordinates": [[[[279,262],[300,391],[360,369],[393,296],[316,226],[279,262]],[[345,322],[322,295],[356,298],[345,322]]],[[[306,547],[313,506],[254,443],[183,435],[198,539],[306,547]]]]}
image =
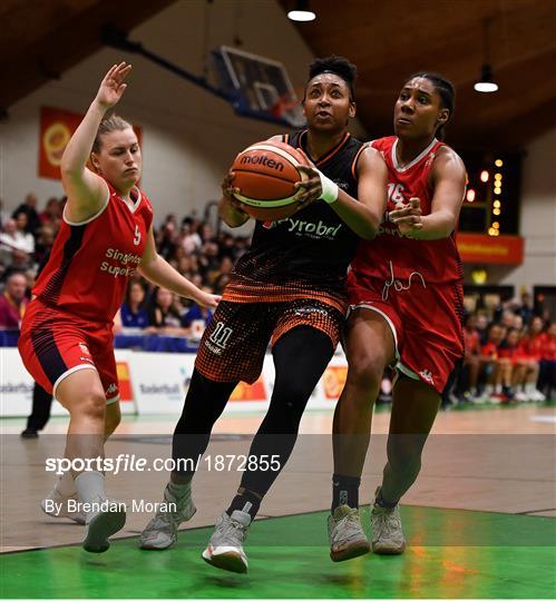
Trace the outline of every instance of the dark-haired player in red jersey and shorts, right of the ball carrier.
{"type": "Polygon", "coordinates": [[[420,72],[394,107],[396,136],[371,142],[389,171],[388,209],[379,235],[363,242],[348,278],[348,378],[334,414],[334,475],[329,520],[331,558],[369,549],[358,520],[359,484],[374,400],[387,365],[396,364],[388,463],[371,512],[372,549],[401,553],[398,502],[421,466],[440,393],[464,355],[462,272],[455,229],[466,169],[439,141],[453,112],[452,85],[420,72]],[[345,516],[345,518],[342,518],[345,516]]]}

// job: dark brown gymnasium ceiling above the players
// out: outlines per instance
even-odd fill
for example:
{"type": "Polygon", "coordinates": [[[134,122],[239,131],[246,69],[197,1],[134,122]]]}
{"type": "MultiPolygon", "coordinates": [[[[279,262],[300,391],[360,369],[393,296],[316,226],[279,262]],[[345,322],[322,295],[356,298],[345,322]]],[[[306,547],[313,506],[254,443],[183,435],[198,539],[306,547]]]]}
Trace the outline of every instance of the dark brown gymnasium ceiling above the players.
{"type": "MultiPolygon", "coordinates": [[[[97,51],[104,23],[129,31],[174,1],[2,0],[0,110],[97,51]]],[[[521,148],[556,126],[556,0],[310,1],[318,19],[294,27],[316,56],[358,65],[358,111],[371,136],[391,131],[399,87],[420,69],[456,83],[449,140],[459,147],[521,148]],[[491,95],[472,89],[487,20],[491,95]]],[[[295,0],[279,2],[286,10],[295,0]]]]}

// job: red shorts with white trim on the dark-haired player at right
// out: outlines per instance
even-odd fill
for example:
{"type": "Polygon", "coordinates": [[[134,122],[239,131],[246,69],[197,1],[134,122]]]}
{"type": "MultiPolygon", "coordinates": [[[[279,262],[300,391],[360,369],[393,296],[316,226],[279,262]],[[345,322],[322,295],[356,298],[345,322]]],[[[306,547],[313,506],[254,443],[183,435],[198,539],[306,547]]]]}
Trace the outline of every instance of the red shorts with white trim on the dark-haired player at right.
{"type": "Polygon", "coordinates": [[[459,283],[426,284],[348,276],[350,312],[374,311],[388,322],[396,343],[396,368],[441,393],[464,356],[464,290],[459,283]]]}

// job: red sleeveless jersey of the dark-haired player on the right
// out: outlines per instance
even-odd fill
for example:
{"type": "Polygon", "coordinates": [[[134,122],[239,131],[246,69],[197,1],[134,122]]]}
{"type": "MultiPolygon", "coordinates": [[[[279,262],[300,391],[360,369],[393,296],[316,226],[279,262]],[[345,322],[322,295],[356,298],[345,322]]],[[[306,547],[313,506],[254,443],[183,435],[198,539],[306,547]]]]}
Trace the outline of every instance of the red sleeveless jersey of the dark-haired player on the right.
{"type": "MultiPolygon", "coordinates": [[[[429,175],[438,149],[443,146],[437,139],[411,162],[398,165],[396,147],[398,138],[390,136],[371,142],[380,151],[388,166],[388,206],[394,210],[398,203],[411,197],[421,200],[422,215],[431,213],[433,190],[429,175]]],[[[380,279],[408,279],[413,277],[427,284],[447,284],[462,279],[461,259],[456,247],[456,235],[440,240],[414,240],[402,236],[396,224],[382,221],[377,237],[362,240],[352,263],[354,276],[380,279]]]]}

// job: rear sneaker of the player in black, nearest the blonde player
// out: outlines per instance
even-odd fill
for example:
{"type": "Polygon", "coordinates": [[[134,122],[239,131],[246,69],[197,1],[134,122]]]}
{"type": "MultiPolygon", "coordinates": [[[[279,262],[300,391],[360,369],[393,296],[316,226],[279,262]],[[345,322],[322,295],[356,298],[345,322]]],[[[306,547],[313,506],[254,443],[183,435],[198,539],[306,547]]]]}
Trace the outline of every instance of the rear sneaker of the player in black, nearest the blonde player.
{"type": "Polygon", "coordinates": [[[168,549],[177,541],[177,529],[182,522],[191,520],[197,508],[192,501],[191,482],[181,497],[175,496],[168,490],[164,489],[163,505],[166,508],[176,508],[175,511],[158,510],[140,533],[139,545],[142,549],[162,550],[168,549]]]}

